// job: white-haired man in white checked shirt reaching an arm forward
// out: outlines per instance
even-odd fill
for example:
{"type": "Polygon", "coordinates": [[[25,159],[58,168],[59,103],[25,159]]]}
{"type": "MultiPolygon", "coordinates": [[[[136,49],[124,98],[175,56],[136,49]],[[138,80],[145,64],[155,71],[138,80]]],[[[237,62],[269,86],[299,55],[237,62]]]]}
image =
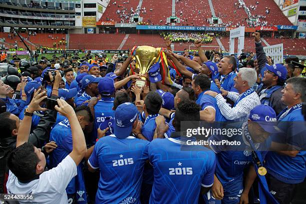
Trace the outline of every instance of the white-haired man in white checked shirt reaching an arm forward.
{"type": "Polygon", "coordinates": [[[238,93],[221,89],[222,94],[211,90],[206,91],[204,94],[215,97],[221,114],[226,119],[246,121],[250,110],[260,104],[259,96],[252,88],[256,79],[257,74],[255,69],[240,68],[237,76],[234,78],[234,88],[238,90],[238,93]],[[230,107],[226,103],[226,99],[223,96],[234,101],[233,107],[230,107]]]}

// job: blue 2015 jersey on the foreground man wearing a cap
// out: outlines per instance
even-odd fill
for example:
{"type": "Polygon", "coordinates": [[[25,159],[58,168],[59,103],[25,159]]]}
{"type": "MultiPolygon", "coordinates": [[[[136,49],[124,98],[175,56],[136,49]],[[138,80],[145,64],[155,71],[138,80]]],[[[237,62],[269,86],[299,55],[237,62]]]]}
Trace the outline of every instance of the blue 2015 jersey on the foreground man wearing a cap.
{"type": "Polygon", "coordinates": [[[88,164],[100,168],[95,203],[140,203],[142,171],[148,159],[148,141],[133,136],[100,138],[88,164]]]}

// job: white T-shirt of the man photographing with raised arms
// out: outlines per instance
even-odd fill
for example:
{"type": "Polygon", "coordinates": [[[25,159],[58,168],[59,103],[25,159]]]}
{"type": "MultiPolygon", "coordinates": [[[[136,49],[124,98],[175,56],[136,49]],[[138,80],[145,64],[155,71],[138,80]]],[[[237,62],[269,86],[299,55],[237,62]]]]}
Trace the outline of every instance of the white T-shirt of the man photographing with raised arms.
{"type": "Polygon", "coordinates": [[[19,203],[68,203],[66,187],[72,177],[77,174],[76,164],[67,155],[56,167],[44,171],[39,179],[28,183],[21,183],[17,177],[9,171],[6,188],[9,194],[31,193],[33,200],[18,200],[19,203]]]}

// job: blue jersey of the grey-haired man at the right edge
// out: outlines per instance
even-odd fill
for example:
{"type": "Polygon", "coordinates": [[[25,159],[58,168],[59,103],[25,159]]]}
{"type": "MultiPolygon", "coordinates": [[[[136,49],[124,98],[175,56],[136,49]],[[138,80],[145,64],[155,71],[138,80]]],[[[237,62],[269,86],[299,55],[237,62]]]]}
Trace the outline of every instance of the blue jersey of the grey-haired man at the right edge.
{"type": "MultiPolygon", "coordinates": [[[[277,142],[292,145],[295,149],[306,148],[306,129],[301,103],[295,105],[295,108],[289,111],[286,116],[282,118],[280,116],[280,119],[277,121],[277,126],[284,131],[284,134],[276,135],[273,139],[277,139],[277,142]],[[279,138],[282,140],[279,140],[279,138]]],[[[295,157],[270,151],[266,156],[266,168],[271,175],[282,182],[300,183],[306,176],[306,151],[299,151],[295,157]]]]}

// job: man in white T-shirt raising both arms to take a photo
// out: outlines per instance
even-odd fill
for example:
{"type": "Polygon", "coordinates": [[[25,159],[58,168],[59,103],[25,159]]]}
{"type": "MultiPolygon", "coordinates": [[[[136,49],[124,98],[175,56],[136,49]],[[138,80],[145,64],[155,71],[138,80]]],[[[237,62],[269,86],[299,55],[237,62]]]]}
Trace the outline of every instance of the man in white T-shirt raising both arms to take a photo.
{"type": "MultiPolygon", "coordinates": [[[[46,96],[40,90],[35,92],[37,96],[30,103],[31,112],[44,110],[39,102],[46,96]]],[[[30,116],[26,116],[20,124],[22,129],[16,142],[16,149],[8,157],[9,176],[7,180],[8,193],[31,193],[36,203],[67,203],[65,188],[74,177],[76,166],[86,153],[84,134],[73,108],[64,100],[57,99],[58,105],[55,109],[66,116],[70,121],[72,132],[72,151],[53,169],[45,171],[46,160],[40,149],[27,142],[30,127],[30,116]]],[[[20,203],[27,203],[28,200],[19,200],[20,203]]]]}

